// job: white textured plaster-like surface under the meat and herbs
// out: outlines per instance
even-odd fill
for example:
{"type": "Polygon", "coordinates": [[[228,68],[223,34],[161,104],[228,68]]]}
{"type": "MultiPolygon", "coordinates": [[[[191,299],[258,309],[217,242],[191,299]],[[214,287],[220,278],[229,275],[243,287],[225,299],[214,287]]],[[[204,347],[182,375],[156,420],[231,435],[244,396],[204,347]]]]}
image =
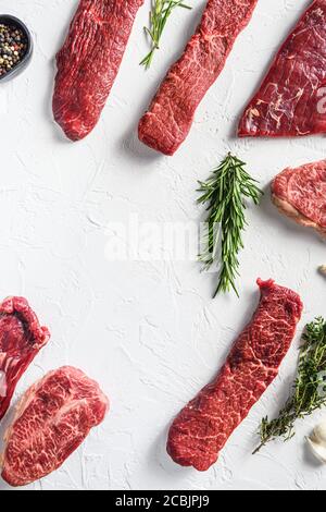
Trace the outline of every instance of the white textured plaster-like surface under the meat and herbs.
{"type": "MultiPolygon", "coordinates": [[[[66,142],[52,122],[54,54],[77,0],[1,0],[35,39],[28,70],[0,86],[0,295],[24,295],[52,338],[20,381],[15,400],[46,371],[83,368],[111,399],[111,412],[54,474],[30,489],[326,489],[326,468],[305,449],[323,416],[299,422],[297,436],[251,451],[263,415],[276,413],[293,378],[299,333],[325,315],[326,263],[318,237],[284,220],[268,193],[250,209],[241,253],[241,298],[211,298],[214,276],[193,261],[109,261],[109,222],[131,215],[156,223],[198,221],[197,180],[230,149],[268,191],[287,166],[325,157],[325,139],[235,138],[237,120],[306,0],[260,0],[226,68],[198,109],[192,131],[173,157],[137,141],[137,121],[168,65],[180,53],[204,4],[179,10],[168,23],[154,64],[142,26],[134,32],[101,121],[84,142],[66,142]],[[231,436],[220,461],[200,474],[166,455],[168,424],[220,368],[258,303],[255,279],[274,278],[300,292],[304,315],[279,377],[231,436]]],[[[13,402],[14,403],[14,402],[13,402]]],[[[1,435],[12,415],[3,420],[1,435]]],[[[326,412],[324,412],[326,415],[326,412]]],[[[0,489],[9,489],[0,484],[0,489]]]]}

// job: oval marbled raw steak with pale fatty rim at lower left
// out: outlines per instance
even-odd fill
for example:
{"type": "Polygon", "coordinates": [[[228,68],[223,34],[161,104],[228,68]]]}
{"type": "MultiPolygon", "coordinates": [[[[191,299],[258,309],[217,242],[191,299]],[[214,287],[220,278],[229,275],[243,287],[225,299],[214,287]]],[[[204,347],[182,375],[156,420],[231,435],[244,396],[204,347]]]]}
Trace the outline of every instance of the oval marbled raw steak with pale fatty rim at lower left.
{"type": "Polygon", "coordinates": [[[5,436],[2,478],[25,486],[58,470],[109,410],[99,385],[63,366],[24,394],[5,436]]]}

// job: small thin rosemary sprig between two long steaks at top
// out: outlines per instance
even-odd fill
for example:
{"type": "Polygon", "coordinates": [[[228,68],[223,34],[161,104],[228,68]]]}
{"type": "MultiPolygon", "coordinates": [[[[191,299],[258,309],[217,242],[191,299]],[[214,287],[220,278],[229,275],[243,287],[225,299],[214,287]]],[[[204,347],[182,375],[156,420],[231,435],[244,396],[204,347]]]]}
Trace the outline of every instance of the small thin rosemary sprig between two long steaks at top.
{"type": "Polygon", "coordinates": [[[146,34],[151,39],[151,50],[142,59],[140,65],[148,70],[152,63],[155,50],[160,49],[160,40],[167,19],[175,8],[191,9],[183,0],[152,0],[152,10],[150,12],[150,28],[143,27],[146,34]]]}

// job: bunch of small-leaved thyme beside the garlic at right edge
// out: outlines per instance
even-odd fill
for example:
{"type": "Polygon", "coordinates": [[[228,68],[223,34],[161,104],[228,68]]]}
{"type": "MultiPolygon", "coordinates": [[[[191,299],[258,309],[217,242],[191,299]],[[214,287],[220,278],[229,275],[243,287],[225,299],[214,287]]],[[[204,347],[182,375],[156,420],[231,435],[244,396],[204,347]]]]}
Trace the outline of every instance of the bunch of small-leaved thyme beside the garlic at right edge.
{"type": "Polygon", "coordinates": [[[293,393],[277,418],[262,419],[259,431],[261,443],[253,453],[278,437],[288,441],[296,434],[296,419],[304,418],[326,405],[326,320],[318,317],[309,324],[302,339],[293,393]]]}

